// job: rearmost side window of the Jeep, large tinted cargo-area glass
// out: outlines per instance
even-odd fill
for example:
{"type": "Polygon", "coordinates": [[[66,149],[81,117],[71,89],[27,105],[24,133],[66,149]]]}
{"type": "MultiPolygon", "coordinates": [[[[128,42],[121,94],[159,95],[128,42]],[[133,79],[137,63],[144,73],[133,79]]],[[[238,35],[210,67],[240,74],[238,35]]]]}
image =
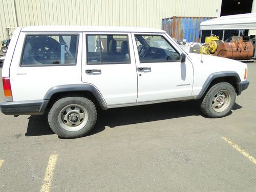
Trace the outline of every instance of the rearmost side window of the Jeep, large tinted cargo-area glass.
{"type": "Polygon", "coordinates": [[[22,66],[75,65],[78,35],[27,35],[22,66]]]}

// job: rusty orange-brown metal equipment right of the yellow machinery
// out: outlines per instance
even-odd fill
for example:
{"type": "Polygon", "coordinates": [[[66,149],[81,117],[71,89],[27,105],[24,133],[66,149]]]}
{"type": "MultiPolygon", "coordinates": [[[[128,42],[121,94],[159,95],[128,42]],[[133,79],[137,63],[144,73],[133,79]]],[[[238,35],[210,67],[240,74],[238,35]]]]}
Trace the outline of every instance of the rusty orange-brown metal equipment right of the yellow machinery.
{"type": "Polygon", "coordinates": [[[244,42],[241,38],[232,39],[230,42],[222,42],[214,55],[235,60],[251,59],[253,46],[250,41],[244,42]]]}

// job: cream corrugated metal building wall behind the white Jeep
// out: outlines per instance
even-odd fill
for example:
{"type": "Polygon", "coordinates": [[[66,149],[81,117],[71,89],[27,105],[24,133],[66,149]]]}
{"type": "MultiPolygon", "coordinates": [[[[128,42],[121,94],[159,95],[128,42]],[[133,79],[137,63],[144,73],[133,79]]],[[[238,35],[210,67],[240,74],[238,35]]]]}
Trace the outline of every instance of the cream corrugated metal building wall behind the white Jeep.
{"type": "Polygon", "coordinates": [[[222,0],[0,0],[0,33],[30,25],[102,25],[161,29],[162,18],[220,16],[222,0]],[[216,9],[218,14],[216,15],[216,9]]]}

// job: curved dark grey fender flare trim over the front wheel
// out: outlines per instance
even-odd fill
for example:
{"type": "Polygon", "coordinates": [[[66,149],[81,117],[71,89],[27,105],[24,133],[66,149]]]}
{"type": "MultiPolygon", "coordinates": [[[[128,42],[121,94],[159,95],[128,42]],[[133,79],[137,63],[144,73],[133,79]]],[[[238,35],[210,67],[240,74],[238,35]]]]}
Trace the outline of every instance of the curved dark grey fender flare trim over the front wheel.
{"type": "Polygon", "coordinates": [[[196,99],[201,99],[201,97],[204,95],[206,90],[208,89],[210,83],[212,80],[219,78],[219,77],[234,77],[236,78],[237,82],[240,82],[241,79],[237,72],[235,71],[225,71],[225,72],[216,72],[209,75],[209,77],[206,79],[206,81],[203,84],[202,90],[200,91],[199,95],[196,97],[196,99]]]}

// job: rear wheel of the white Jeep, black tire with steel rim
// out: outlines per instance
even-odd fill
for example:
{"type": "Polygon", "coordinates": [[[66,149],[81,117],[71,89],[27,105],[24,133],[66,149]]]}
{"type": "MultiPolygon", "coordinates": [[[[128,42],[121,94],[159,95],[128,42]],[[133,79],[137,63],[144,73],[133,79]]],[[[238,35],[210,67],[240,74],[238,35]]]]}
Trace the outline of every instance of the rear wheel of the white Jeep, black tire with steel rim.
{"type": "Polygon", "coordinates": [[[59,137],[77,138],[88,134],[97,120],[94,103],[84,97],[57,100],[48,113],[48,122],[59,137]]]}

